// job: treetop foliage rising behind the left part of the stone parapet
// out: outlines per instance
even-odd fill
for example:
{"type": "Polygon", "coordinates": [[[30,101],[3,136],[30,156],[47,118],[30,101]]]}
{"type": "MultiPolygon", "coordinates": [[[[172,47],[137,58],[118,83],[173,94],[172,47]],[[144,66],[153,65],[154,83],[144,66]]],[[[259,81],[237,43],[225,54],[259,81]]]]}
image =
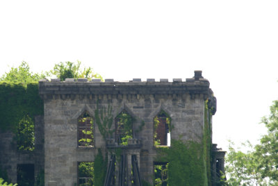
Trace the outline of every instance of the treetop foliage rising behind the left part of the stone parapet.
{"type": "Polygon", "coordinates": [[[89,80],[92,78],[101,78],[102,80],[102,77],[94,73],[91,67],[81,69],[80,61],[77,61],[76,64],[70,61],[60,62],[54,66],[51,74],[60,78],[60,81],[65,81],[65,78],[88,78],[89,80]]]}

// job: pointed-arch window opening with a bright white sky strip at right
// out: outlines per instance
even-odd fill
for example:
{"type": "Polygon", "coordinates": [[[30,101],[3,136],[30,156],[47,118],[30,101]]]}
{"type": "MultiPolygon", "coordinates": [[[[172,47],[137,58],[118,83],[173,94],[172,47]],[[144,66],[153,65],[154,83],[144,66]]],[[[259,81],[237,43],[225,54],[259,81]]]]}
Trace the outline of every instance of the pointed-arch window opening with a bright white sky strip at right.
{"type": "Polygon", "coordinates": [[[154,117],[154,145],[167,145],[171,144],[171,134],[170,134],[170,123],[171,118],[166,112],[161,110],[161,112],[154,117]]]}

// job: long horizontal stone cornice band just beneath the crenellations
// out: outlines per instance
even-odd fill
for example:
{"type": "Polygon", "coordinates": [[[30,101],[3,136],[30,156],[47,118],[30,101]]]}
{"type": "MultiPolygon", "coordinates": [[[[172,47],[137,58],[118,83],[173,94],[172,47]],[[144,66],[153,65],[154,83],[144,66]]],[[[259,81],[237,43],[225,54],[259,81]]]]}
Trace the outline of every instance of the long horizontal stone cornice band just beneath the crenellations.
{"type": "Polygon", "coordinates": [[[113,83],[92,83],[92,82],[40,82],[40,95],[54,94],[207,94],[211,93],[209,82],[186,81],[186,82],[113,82],[113,83]]]}

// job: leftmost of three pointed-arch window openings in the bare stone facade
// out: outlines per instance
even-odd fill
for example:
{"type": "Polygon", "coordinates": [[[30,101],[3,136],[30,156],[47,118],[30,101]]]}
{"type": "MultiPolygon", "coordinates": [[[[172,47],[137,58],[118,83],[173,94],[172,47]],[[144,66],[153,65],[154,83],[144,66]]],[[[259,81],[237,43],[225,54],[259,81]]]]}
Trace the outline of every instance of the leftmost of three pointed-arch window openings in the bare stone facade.
{"type": "Polygon", "coordinates": [[[94,119],[84,112],[78,119],[78,145],[94,145],[94,119]]]}

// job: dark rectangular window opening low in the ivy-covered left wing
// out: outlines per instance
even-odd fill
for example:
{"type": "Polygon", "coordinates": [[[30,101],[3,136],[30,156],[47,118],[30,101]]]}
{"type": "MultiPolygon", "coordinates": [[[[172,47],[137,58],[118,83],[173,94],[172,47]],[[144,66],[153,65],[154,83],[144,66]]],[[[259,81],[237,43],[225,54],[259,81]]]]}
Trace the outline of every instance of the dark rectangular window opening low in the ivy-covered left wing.
{"type": "Polygon", "coordinates": [[[33,186],[35,183],[34,164],[17,164],[17,184],[33,186]]]}

